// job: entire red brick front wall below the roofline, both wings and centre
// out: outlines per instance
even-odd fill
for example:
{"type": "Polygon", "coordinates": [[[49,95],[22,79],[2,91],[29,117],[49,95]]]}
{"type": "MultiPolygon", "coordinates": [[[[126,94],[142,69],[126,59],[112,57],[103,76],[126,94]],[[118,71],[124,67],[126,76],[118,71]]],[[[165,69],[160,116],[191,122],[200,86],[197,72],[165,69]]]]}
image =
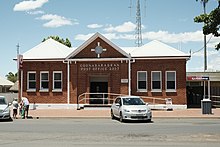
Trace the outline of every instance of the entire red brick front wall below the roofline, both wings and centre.
{"type": "MultiPolygon", "coordinates": [[[[131,94],[159,98],[172,98],[174,104],[186,104],[186,61],[185,60],[136,60],[131,64],[131,94]],[[137,71],[147,71],[148,91],[137,92],[137,71]],[[151,92],[151,71],[162,72],[162,92],[151,92]],[[165,91],[165,72],[176,71],[176,92],[165,91]]],[[[128,94],[128,63],[126,61],[109,62],[72,62],[70,65],[70,103],[76,104],[77,97],[90,92],[90,76],[106,75],[108,77],[108,92],[128,94]],[[93,70],[95,66],[103,65],[93,70]],[[112,64],[111,67],[109,67],[112,64]],[[106,66],[106,67],[105,67],[106,66]],[[90,68],[90,69],[88,69],[90,68]],[[102,69],[101,69],[102,68],[102,69]],[[106,68],[106,69],[103,69],[106,68]],[[110,70],[112,68],[112,70],[110,70]]],[[[63,62],[24,62],[23,63],[23,96],[31,103],[67,103],[67,64],[63,62]],[[27,72],[36,71],[36,92],[27,92],[27,72]],[[39,92],[40,71],[49,71],[49,92],[39,92]],[[62,71],[62,92],[52,92],[53,71],[62,71]]]]}

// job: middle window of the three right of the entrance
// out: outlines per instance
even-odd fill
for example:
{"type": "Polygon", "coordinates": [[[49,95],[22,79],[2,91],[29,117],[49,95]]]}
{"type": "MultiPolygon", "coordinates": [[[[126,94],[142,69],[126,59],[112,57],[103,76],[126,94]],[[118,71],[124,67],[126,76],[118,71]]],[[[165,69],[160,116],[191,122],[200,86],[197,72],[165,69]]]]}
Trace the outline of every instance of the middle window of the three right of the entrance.
{"type": "Polygon", "coordinates": [[[151,90],[153,92],[162,92],[161,88],[161,71],[151,72],[151,90]]]}

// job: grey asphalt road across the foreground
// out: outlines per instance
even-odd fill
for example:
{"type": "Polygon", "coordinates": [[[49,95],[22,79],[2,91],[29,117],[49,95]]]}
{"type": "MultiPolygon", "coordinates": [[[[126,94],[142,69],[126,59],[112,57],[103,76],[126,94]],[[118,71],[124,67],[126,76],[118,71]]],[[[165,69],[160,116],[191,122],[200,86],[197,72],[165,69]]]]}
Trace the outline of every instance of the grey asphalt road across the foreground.
{"type": "Polygon", "coordinates": [[[1,147],[110,147],[220,145],[219,119],[32,119],[0,122],[1,147]]]}

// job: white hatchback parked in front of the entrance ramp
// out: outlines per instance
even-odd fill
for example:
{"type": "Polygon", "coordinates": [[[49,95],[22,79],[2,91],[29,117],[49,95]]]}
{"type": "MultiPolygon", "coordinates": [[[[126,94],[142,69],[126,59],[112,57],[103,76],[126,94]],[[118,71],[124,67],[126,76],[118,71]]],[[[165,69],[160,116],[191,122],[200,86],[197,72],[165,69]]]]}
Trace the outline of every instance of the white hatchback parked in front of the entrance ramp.
{"type": "Polygon", "coordinates": [[[152,112],[139,96],[119,96],[111,106],[112,119],[151,121],[152,112]]]}

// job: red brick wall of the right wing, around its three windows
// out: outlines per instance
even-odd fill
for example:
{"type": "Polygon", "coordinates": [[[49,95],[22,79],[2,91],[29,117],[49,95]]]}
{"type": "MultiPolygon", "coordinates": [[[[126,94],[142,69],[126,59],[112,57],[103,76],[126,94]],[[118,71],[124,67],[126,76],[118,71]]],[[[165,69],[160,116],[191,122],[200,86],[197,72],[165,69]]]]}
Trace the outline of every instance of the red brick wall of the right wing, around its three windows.
{"type": "Polygon", "coordinates": [[[186,104],[186,60],[136,60],[132,63],[132,95],[172,98],[174,104],[186,104]],[[137,92],[137,71],[147,71],[147,92],[137,92]],[[162,72],[162,92],[151,92],[151,71],[162,72]],[[166,92],[166,71],[176,71],[176,92],[166,92]]]}

